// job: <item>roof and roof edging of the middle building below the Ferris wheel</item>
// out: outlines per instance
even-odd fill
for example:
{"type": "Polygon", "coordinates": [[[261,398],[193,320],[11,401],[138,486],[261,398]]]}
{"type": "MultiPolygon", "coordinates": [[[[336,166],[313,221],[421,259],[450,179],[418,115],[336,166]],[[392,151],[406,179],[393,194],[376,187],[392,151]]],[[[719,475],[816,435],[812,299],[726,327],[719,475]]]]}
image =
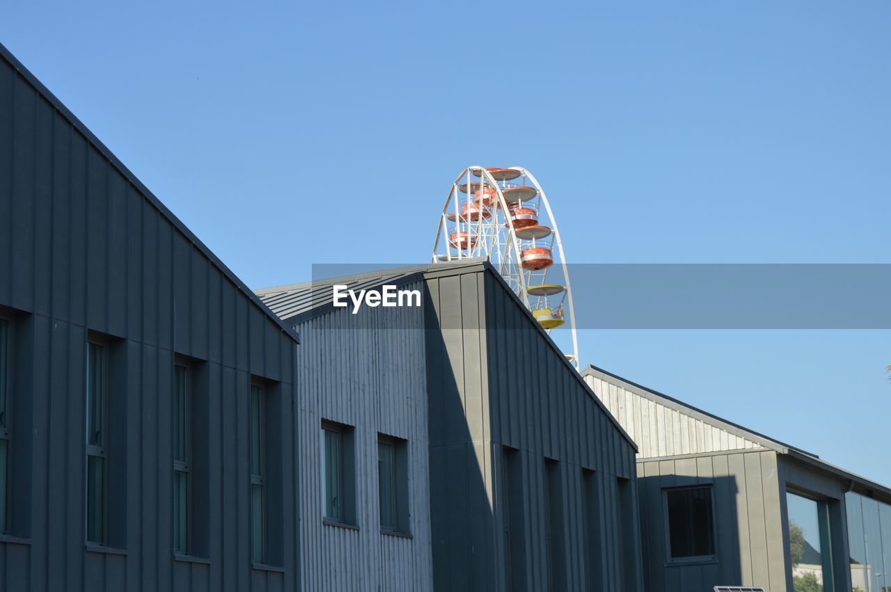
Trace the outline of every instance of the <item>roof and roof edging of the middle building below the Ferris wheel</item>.
{"type": "Polygon", "coordinates": [[[576,377],[578,384],[582,385],[584,391],[591,397],[600,410],[606,414],[613,426],[625,437],[625,440],[631,443],[635,451],[638,450],[637,442],[634,442],[632,437],[625,431],[625,428],[618,422],[617,418],[609,412],[609,409],[603,404],[603,401],[601,401],[593,392],[591,386],[584,382],[584,378],[582,378],[575,367],[567,361],[566,356],[560,351],[560,347],[553,342],[551,336],[547,334],[547,331],[538,324],[538,321],[532,316],[532,312],[530,312],[526,305],[520,301],[519,296],[514,293],[507,282],[504,281],[501,273],[495,270],[495,267],[489,261],[488,257],[470,257],[451,263],[411,265],[376,272],[357,273],[356,275],[347,275],[339,278],[307,281],[274,288],[261,288],[257,289],[257,296],[260,296],[273,312],[281,314],[282,320],[285,320],[290,324],[297,324],[333,310],[333,290],[331,287],[334,284],[346,285],[350,289],[378,288],[384,284],[400,287],[417,280],[474,272],[487,272],[492,274],[496,283],[513,298],[514,303],[525,313],[531,326],[535,327],[535,329],[538,330],[539,335],[559,354],[560,360],[563,362],[566,370],[571,372],[572,376],[576,377]]]}

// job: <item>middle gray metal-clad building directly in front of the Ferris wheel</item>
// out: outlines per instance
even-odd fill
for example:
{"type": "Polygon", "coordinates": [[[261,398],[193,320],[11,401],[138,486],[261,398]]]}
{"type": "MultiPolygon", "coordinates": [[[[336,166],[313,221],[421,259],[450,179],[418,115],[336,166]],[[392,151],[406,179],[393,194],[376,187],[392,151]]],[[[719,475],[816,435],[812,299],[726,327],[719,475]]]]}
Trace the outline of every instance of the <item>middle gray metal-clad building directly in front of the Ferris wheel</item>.
{"type": "Polygon", "coordinates": [[[301,336],[304,589],[641,589],[634,442],[486,260],[257,294],[301,336]],[[334,285],[417,290],[421,306],[353,314],[334,285]],[[332,461],[343,442],[355,453],[332,461]],[[401,500],[376,442],[403,451],[401,500]],[[338,466],[332,520],[314,480],[338,466]]]}

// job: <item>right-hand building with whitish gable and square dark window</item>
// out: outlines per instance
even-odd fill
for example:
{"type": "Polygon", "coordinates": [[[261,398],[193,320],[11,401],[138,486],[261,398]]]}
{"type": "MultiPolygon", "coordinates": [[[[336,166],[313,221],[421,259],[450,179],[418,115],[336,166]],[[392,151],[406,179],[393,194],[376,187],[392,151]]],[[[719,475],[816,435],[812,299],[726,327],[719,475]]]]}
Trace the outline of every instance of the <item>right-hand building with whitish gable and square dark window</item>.
{"type": "Polygon", "coordinates": [[[644,588],[887,592],[891,489],[589,366],[638,442],[644,588]]]}

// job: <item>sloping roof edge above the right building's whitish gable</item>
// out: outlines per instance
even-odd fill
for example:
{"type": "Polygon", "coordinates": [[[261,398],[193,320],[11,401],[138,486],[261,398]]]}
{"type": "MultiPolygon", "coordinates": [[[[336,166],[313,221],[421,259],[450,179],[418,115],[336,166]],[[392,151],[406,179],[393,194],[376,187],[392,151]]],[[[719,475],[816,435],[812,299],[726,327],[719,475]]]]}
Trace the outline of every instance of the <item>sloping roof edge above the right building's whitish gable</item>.
{"type": "Polygon", "coordinates": [[[891,501],[891,488],[887,488],[886,486],[871,481],[870,479],[862,477],[859,474],[854,474],[850,471],[846,471],[843,468],[832,465],[811,452],[806,452],[805,450],[790,446],[789,444],[786,444],[779,440],[775,440],[771,437],[765,436],[764,434],[759,434],[754,430],[750,430],[746,427],[734,424],[726,419],[719,418],[716,415],[708,413],[707,411],[700,410],[688,403],[674,399],[674,397],[669,397],[667,394],[659,393],[658,391],[654,391],[646,386],[638,385],[637,383],[631,382],[626,378],[620,377],[607,370],[597,368],[596,366],[593,366],[591,364],[589,364],[587,368],[582,370],[582,376],[600,378],[601,380],[604,380],[606,382],[621,386],[626,391],[637,394],[638,396],[641,396],[650,401],[658,402],[661,405],[665,405],[669,409],[679,411],[684,415],[690,416],[691,418],[699,419],[700,421],[726,430],[730,434],[738,435],[742,438],[750,440],[751,442],[756,442],[757,444],[764,446],[764,448],[776,450],[780,454],[787,455],[790,458],[795,458],[796,460],[803,462],[806,465],[813,466],[813,468],[822,471],[823,473],[831,474],[842,479],[847,479],[851,482],[852,487],[854,487],[854,489],[857,491],[866,491],[873,494],[878,493],[879,496],[882,497],[882,499],[891,501]]]}

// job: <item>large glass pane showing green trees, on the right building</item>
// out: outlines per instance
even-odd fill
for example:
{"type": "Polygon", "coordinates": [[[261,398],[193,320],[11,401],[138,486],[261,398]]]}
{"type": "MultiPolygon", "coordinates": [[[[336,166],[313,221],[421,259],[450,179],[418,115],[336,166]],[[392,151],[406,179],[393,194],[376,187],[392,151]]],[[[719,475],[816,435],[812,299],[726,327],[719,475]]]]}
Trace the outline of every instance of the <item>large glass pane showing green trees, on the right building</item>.
{"type": "Polygon", "coordinates": [[[831,592],[832,561],[829,507],[825,501],[786,494],[789,528],[789,561],[795,592],[831,592]]]}

